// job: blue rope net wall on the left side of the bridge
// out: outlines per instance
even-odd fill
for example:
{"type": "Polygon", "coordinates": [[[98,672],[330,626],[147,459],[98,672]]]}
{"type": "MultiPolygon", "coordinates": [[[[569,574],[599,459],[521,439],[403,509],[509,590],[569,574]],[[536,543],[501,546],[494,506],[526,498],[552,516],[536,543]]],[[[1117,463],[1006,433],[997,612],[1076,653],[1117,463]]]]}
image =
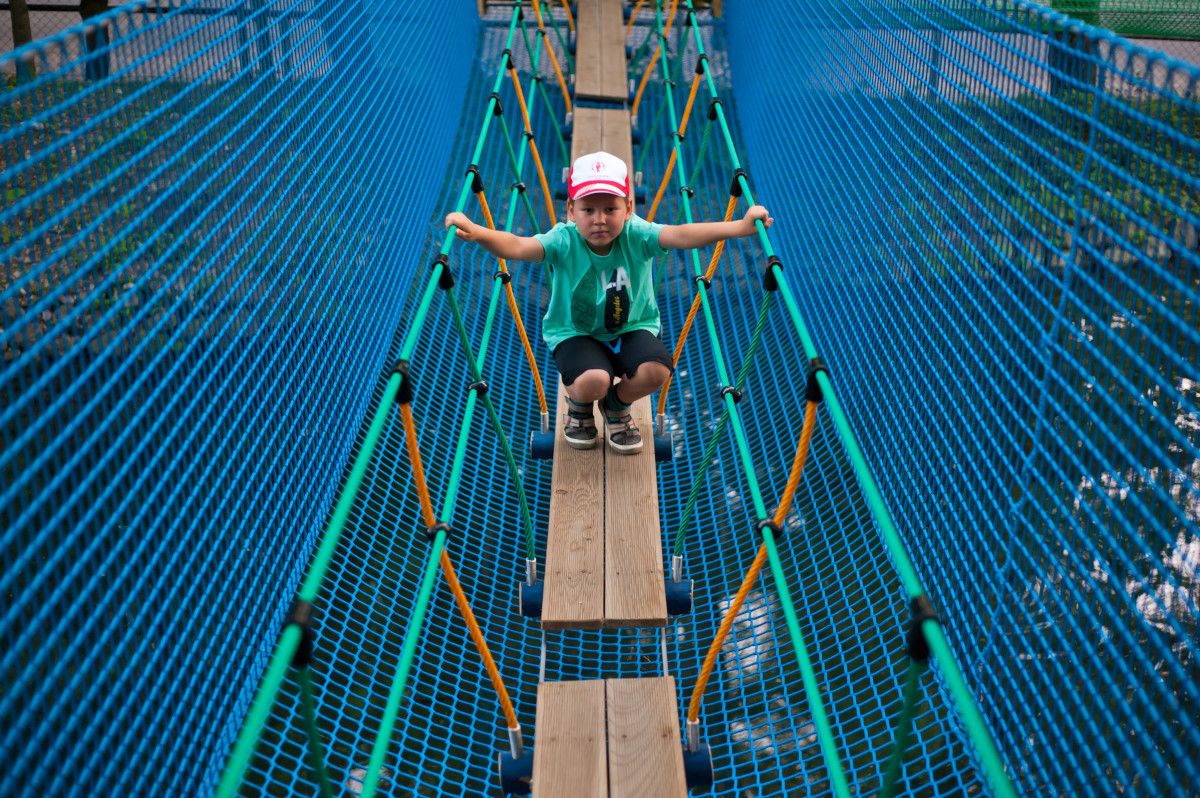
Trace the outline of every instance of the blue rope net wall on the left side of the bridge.
{"type": "Polygon", "coordinates": [[[4,61],[6,794],[211,790],[475,56],[469,4],[158,5],[4,61]]]}

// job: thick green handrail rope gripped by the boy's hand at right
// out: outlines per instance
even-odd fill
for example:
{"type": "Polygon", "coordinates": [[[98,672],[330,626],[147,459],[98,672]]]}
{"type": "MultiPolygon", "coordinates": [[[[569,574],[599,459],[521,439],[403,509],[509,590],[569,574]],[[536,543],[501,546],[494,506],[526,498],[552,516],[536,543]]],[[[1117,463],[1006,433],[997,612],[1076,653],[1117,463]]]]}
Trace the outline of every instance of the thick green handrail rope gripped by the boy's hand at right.
{"type": "MultiPolygon", "coordinates": [[[[692,7],[692,1],[686,0],[688,7],[688,19],[691,28],[692,36],[696,42],[696,48],[700,58],[707,58],[704,55],[704,43],[700,32],[700,26],[696,22],[695,8],[692,7]]],[[[716,85],[713,82],[712,74],[707,76],[707,84],[709,94],[714,101],[714,110],[716,113],[718,124],[720,125],[721,133],[725,138],[726,151],[730,160],[733,163],[736,174],[738,174],[738,181],[742,185],[742,190],[745,193],[746,203],[754,204],[754,194],[750,191],[749,180],[740,167],[739,158],[737,155],[737,148],[733,144],[733,137],[730,132],[730,126],[725,119],[725,112],[719,102],[716,85]]],[[[761,222],[756,222],[758,230],[758,239],[762,242],[763,251],[770,264],[772,278],[775,281],[779,288],[779,293],[782,295],[784,306],[787,314],[792,322],[792,326],[796,330],[797,336],[800,338],[800,344],[805,355],[810,359],[817,356],[816,347],[812,343],[812,338],[809,335],[808,328],[804,324],[804,319],[800,316],[799,306],[797,305],[796,298],[792,295],[791,287],[784,275],[781,264],[775,256],[774,247],[770,244],[770,238],[767,233],[766,227],[761,222]]],[[[887,504],[883,502],[883,494],[880,491],[878,484],[875,481],[871,474],[870,467],[866,463],[866,458],[863,455],[862,449],[858,445],[858,439],[854,436],[854,431],[850,425],[850,420],[841,408],[841,403],[838,400],[836,394],[833,390],[833,384],[829,380],[827,373],[818,372],[816,374],[817,384],[821,388],[822,396],[829,410],[829,416],[841,437],[842,444],[845,445],[846,454],[851,461],[851,466],[854,469],[856,475],[863,488],[863,494],[866,498],[866,503],[874,515],[876,522],[880,524],[880,532],[883,538],[883,542],[892,554],[892,560],[895,564],[896,572],[904,584],[905,592],[908,594],[911,600],[924,598],[925,590],[920,583],[920,577],[917,575],[917,570],[912,564],[912,559],[908,556],[907,547],[904,540],[900,538],[896,530],[895,523],[892,520],[892,514],[889,512],[887,504]]],[[[774,542],[768,541],[768,548],[774,548],[774,542]]],[[[772,570],[781,575],[782,569],[776,566],[775,562],[772,562],[772,570]]],[[[992,792],[997,796],[1009,797],[1015,796],[1015,788],[1013,787],[1012,780],[1004,772],[1004,763],[1000,756],[1000,751],[996,748],[995,739],[992,738],[991,731],[984,720],[979,707],[974,702],[974,697],[971,694],[970,688],[962,676],[962,671],[959,667],[958,660],[954,656],[949,643],[946,640],[946,635],[942,631],[941,624],[936,618],[925,619],[920,624],[920,631],[925,637],[925,641],[932,652],[934,656],[937,659],[938,666],[941,668],[942,678],[946,682],[947,688],[954,698],[955,707],[958,709],[959,716],[964,721],[964,726],[967,730],[967,734],[971,738],[972,745],[976,749],[976,754],[979,757],[979,762],[983,766],[985,778],[991,787],[992,792]]]]}

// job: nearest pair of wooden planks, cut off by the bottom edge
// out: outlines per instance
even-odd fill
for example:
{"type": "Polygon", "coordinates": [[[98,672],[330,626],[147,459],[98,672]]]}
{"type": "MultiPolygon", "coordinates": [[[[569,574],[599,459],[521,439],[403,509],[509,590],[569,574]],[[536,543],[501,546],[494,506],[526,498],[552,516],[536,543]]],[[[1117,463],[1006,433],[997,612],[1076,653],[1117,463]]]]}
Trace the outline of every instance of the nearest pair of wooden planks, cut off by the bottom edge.
{"type": "Polygon", "coordinates": [[[673,677],[538,685],[535,798],[688,794],[673,677]]]}

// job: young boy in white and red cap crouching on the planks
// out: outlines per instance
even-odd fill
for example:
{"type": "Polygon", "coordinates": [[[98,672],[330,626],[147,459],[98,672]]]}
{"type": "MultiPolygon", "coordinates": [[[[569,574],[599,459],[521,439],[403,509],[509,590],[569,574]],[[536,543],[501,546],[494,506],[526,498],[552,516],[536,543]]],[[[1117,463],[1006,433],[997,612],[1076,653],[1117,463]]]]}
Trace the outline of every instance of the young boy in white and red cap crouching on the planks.
{"type": "Polygon", "coordinates": [[[464,241],[510,260],[550,266],[550,307],[542,337],[566,388],[566,443],[596,444],[593,402],[600,401],[606,437],[623,455],[642,450],[642,433],[629,408],[666,382],[674,367],[659,338],[654,258],[667,250],[706,246],[754,235],[755,220],[774,221],[762,205],[739,222],[653,224],[634,215],[625,162],[607,152],[581,156],[566,184],[568,223],[548,233],[520,236],[449,214],[446,227],[464,241]],[[619,377],[619,383],[613,383],[619,377]]]}

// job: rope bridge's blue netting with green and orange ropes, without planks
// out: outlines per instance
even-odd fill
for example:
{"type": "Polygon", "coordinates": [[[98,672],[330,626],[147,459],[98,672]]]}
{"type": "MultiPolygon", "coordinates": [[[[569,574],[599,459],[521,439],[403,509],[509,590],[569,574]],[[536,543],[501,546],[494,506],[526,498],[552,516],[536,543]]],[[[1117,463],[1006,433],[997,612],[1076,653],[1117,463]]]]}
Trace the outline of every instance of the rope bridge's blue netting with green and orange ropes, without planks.
{"type": "Polygon", "coordinates": [[[1019,4],[631,10],[647,212],[780,224],[658,271],[691,614],[544,638],[541,274],[438,220],[560,212],[575,20],[462,5],[10,59],[6,791],[494,793],[539,679],[664,661],[722,794],[1194,784],[1200,76],[1019,4]]]}

